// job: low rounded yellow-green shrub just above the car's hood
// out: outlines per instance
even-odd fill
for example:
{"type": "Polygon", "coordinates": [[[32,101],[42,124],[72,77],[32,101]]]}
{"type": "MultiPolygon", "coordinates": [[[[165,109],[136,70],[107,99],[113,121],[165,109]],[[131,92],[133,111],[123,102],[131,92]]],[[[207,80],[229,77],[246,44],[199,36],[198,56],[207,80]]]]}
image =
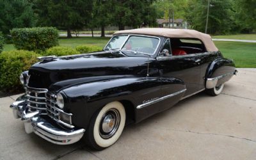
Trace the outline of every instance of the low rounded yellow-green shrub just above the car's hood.
{"type": "Polygon", "coordinates": [[[67,56],[72,54],[79,54],[76,49],[73,49],[71,47],[51,47],[50,49],[47,49],[44,53],[42,53],[44,56],[67,56]]]}

